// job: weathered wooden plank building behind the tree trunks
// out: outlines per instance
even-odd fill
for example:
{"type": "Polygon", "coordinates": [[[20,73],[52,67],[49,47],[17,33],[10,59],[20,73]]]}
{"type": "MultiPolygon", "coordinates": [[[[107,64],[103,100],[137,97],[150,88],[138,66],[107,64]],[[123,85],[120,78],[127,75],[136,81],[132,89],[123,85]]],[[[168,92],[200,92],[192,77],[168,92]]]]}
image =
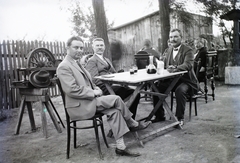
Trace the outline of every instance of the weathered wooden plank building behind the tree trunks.
{"type": "MultiPolygon", "coordinates": [[[[208,23],[209,17],[191,14],[193,17],[191,26],[186,26],[174,16],[175,13],[173,11],[170,13],[171,29],[181,29],[184,41],[198,37],[200,34],[212,34],[212,23],[208,23]]],[[[159,11],[156,11],[137,20],[111,28],[108,31],[110,42],[119,41],[123,46],[123,51],[119,55],[124,56],[125,59],[127,57],[127,62],[124,61],[121,65],[116,65],[117,67],[120,66],[123,69],[129,67],[127,64],[131,63],[128,62],[133,61],[129,61],[129,59],[133,59],[133,55],[142,48],[144,39],[150,39],[153,47],[160,51],[159,19],[159,11]]]]}

